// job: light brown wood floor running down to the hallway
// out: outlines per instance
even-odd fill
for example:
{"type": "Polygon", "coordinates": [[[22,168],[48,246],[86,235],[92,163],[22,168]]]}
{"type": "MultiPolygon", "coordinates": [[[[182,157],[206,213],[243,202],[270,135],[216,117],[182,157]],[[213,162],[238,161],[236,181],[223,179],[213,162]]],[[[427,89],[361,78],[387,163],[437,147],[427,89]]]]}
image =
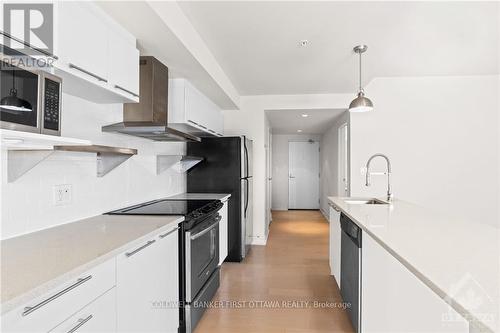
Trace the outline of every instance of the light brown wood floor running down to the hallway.
{"type": "Polygon", "coordinates": [[[267,246],[222,266],[219,291],[195,333],[354,332],[329,272],[323,215],[275,211],[267,246]]]}

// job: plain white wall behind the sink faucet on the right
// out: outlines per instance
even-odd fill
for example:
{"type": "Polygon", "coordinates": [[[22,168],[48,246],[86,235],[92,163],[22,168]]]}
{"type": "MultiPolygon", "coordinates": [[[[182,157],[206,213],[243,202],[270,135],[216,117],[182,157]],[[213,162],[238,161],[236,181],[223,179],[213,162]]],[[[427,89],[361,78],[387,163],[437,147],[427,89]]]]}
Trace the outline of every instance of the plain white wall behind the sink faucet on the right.
{"type": "MultiPolygon", "coordinates": [[[[364,185],[374,153],[393,164],[396,198],[457,218],[500,225],[498,76],[378,78],[375,109],[351,115],[351,194],[383,196],[384,177],[364,185]]],[[[382,161],[373,171],[383,170],[382,161]]]]}

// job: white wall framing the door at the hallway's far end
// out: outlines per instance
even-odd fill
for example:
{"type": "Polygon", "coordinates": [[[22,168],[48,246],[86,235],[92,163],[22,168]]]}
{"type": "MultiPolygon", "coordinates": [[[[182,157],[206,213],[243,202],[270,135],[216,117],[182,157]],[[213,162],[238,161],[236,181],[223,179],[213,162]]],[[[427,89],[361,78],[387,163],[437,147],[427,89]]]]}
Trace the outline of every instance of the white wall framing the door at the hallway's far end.
{"type": "Polygon", "coordinates": [[[272,209],[288,210],[288,143],[309,140],[321,141],[321,135],[273,134],[272,209]]]}

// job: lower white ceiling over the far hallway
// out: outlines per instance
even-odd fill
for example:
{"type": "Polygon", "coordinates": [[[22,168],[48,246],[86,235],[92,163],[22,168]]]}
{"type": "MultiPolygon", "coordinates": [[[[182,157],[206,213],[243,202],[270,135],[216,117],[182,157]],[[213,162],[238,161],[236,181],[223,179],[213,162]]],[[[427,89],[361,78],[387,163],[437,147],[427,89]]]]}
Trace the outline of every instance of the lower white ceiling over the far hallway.
{"type": "Polygon", "coordinates": [[[267,110],[266,116],[273,134],[323,134],[346,110],[267,110]],[[308,117],[302,117],[307,114],[308,117]],[[302,132],[297,132],[297,130],[302,132]]]}

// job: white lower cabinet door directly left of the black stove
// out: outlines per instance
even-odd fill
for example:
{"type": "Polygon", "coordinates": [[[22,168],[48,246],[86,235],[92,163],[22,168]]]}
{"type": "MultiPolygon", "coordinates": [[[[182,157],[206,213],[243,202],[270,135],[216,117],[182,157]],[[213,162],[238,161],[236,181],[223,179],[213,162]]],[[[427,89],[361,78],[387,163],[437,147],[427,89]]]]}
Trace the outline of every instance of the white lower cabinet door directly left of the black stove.
{"type": "Polygon", "coordinates": [[[117,257],[118,332],[177,332],[177,245],[175,227],[117,257]]]}

